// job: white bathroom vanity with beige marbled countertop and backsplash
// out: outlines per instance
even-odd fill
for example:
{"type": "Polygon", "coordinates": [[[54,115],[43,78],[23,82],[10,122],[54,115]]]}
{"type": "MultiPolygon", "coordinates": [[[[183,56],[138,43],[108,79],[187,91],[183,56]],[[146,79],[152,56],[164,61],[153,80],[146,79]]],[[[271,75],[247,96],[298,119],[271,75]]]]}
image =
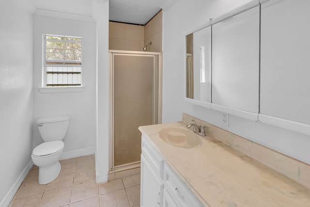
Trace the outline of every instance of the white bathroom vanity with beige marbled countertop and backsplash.
{"type": "MultiPolygon", "coordinates": [[[[208,130],[204,137],[196,135],[186,128],[189,123],[139,127],[142,133],[141,207],[310,206],[309,181],[300,185],[283,175],[286,170],[279,173],[279,170],[271,168],[277,167],[268,163],[269,167],[220,140],[227,137],[230,142],[238,143],[238,147],[255,151],[257,156],[270,156],[270,153],[276,152],[269,152],[263,146],[242,140],[243,138],[218,127],[216,134],[220,140],[215,139],[215,126],[212,125],[207,125],[212,136],[209,136],[208,130]],[[177,146],[179,143],[175,144],[173,141],[169,143],[160,137],[161,131],[167,128],[187,130],[192,133],[190,136],[197,136],[201,143],[191,148],[177,146]]],[[[178,134],[175,131],[171,133],[178,134]]],[[[291,158],[279,159],[274,154],[270,159],[274,159],[274,163],[283,163],[288,171],[294,171],[295,165],[290,164],[291,158]]],[[[309,175],[309,165],[303,164],[298,162],[297,165],[309,175]]]]}

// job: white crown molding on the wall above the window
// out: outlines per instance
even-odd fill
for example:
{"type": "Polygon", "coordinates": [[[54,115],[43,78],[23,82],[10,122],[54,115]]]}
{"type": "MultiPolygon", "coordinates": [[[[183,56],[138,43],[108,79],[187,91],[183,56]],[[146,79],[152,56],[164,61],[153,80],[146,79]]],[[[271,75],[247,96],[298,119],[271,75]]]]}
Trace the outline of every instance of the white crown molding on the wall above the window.
{"type": "Polygon", "coordinates": [[[62,13],[62,12],[48,11],[44,9],[37,9],[33,14],[38,15],[38,16],[49,16],[49,17],[56,17],[56,18],[81,20],[81,21],[95,21],[93,16],[75,15],[75,14],[68,14],[68,13],[62,13]]]}

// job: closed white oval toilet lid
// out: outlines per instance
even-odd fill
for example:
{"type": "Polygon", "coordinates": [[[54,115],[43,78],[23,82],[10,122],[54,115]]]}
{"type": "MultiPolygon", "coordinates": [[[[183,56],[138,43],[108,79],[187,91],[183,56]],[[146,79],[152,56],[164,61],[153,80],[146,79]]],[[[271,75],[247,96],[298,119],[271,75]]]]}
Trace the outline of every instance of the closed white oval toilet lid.
{"type": "Polygon", "coordinates": [[[61,150],[63,146],[61,140],[42,143],[33,149],[32,154],[35,156],[50,155],[61,150]]]}

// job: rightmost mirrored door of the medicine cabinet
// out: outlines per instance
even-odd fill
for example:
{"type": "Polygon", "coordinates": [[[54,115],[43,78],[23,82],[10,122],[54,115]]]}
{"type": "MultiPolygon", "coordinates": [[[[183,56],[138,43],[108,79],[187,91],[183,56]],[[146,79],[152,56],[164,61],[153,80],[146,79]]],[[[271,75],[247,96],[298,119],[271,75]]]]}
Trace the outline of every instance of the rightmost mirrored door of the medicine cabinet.
{"type": "Polygon", "coordinates": [[[309,11],[309,0],[262,4],[262,114],[310,124],[309,11]]]}

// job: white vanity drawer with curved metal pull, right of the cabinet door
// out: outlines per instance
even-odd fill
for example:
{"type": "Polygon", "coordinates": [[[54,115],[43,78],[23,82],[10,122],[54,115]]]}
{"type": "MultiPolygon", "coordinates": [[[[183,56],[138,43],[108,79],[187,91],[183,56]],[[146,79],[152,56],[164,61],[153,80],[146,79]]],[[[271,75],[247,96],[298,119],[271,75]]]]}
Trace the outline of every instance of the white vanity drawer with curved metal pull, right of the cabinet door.
{"type": "Polygon", "coordinates": [[[171,194],[178,207],[202,207],[195,195],[166,163],[164,164],[164,187],[171,194]]]}

